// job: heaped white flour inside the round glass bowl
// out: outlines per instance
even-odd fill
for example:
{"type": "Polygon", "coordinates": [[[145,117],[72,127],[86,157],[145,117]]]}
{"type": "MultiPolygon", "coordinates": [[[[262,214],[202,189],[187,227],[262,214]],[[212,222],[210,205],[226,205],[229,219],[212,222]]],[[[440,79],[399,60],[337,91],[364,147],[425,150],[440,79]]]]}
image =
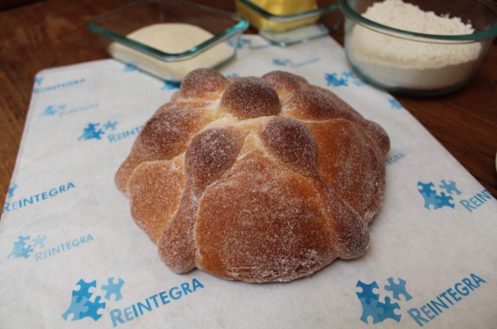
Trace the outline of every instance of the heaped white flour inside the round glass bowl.
{"type": "MultiPolygon", "coordinates": [[[[402,0],[376,2],[365,18],[411,32],[461,35],[474,28],[459,17],[437,16],[402,0]]],[[[448,87],[465,80],[476,67],[479,42],[454,44],[412,41],[382,34],[356,24],[346,47],[351,62],[363,74],[391,87],[421,90],[448,87]]]]}

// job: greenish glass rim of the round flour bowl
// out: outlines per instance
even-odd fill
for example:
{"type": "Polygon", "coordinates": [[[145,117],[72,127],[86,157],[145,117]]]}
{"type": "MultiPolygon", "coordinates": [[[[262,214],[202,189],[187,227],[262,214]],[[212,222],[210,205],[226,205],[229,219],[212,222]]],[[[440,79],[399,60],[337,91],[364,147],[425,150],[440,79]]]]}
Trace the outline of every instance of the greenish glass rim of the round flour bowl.
{"type": "MultiPolygon", "coordinates": [[[[486,5],[489,9],[493,10],[494,13],[497,15],[497,6],[492,1],[490,0],[477,0],[477,1],[486,5]]],[[[358,12],[356,12],[354,9],[352,9],[352,7],[349,5],[349,0],[340,0],[340,8],[343,14],[347,18],[352,19],[353,21],[364,27],[371,28],[380,33],[385,33],[393,35],[395,37],[405,38],[414,41],[436,42],[437,40],[439,40],[442,42],[452,41],[454,43],[457,42],[469,43],[469,42],[483,41],[497,36],[497,24],[495,24],[488,30],[476,32],[473,34],[461,34],[461,35],[425,34],[425,33],[406,31],[369,20],[366,17],[359,14],[358,12]],[[416,37],[428,40],[415,40],[416,37]]]]}

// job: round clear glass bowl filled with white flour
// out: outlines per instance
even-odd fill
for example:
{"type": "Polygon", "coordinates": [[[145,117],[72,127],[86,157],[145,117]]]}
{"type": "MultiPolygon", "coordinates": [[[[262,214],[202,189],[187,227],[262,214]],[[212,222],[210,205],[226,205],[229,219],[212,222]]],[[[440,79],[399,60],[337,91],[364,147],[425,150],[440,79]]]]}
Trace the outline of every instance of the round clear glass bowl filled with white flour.
{"type": "Polygon", "coordinates": [[[355,73],[400,94],[459,89],[497,35],[492,0],[340,0],[340,7],[355,73]]]}

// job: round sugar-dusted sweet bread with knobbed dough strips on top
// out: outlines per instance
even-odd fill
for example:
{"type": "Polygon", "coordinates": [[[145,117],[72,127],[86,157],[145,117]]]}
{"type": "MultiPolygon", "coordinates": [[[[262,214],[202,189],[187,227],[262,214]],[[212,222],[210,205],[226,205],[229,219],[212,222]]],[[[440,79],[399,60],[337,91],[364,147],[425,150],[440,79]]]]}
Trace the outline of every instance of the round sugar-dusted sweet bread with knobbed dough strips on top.
{"type": "Polygon", "coordinates": [[[290,281],[365,252],[389,148],[378,124],[302,77],[199,69],[115,182],[173,272],[290,281]]]}

